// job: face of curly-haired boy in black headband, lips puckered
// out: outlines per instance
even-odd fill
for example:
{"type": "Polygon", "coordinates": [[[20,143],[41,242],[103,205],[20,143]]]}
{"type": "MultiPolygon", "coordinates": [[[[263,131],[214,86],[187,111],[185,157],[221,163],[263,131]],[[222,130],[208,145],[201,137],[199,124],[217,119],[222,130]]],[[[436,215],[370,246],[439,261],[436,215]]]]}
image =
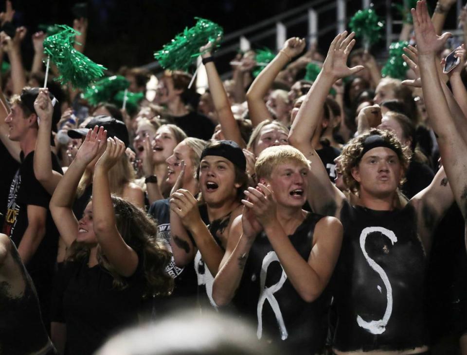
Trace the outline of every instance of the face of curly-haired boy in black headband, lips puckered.
{"type": "Polygon", "coordinates": [[[403,176],[397,154],[389,148],[377,147],[366,152],[352,177],[360,185],[360,194],[386,198],[394,194],[403,176]]]}

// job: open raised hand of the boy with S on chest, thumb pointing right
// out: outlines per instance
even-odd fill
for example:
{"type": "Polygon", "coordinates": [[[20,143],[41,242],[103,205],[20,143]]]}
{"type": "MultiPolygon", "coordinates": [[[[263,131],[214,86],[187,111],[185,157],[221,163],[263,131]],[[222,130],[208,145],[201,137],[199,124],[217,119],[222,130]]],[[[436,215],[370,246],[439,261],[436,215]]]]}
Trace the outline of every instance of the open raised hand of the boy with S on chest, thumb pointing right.
{"type": "Polygon", "coordinates": [[[347,35],[347,31],[338,34],[329,46],[326,59],[323,64],[323,72],[331,76],[334,81],[355,74],[365,67],[347,67],[347,57],[355,45],[355,33],[347,35]]]}

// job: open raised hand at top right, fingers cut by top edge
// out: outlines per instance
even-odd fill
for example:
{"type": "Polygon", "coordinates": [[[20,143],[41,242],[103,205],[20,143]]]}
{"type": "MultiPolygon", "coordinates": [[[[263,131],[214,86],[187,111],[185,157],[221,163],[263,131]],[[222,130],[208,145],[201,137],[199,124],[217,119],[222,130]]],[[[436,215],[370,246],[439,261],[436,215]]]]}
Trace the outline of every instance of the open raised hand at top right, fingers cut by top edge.
{"type": "Polygon", "coordinates": [[[452,34],[449,32],[440,36],[436,34],[430,14],[428,13],[426,0],[417,1],[416,9],[412,9],[411,13],[418,54],[436,54],[442,51],[446,41],[452,34]]]}

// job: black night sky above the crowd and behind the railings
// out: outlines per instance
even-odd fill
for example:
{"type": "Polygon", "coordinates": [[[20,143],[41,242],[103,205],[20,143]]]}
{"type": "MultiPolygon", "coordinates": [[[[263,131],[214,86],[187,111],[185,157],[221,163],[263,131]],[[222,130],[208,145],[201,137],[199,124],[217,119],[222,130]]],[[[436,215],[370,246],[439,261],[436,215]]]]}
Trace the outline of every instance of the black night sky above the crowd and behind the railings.
{"type": "MultiPolygon", "coordinates": [[[[0,0],[1,1],[1,0],[0,0]]],[[[378,3],[382,0],[377,0],[378,3]]],[[[2,2],[2,1],[1,1],[2,2]]],[[[16,10],[14,24],[24,25],[28,35],[23,42],[23,61],[30,68],[33,48],[31,34],[39,24],[67,24],[72,26],[72,0],[13,0],[16,10]]],[[[89,0],[88,39],[85,54],[110,70],[123,65],[136,67],[154,61],[153,52],[181,32],[195,24],[194,17],[204,17],[224,27],[229,34],[263,19],[305,4],[303,0],[89,0]]],[[[361,6],[361,0],[347,3],[347,17],[361,6]]],[[[4,3],[0,3],[4,8],[4,3]]],[[[396,12],[394,12],[396,14],[396,12]]],[[[451,12],[450,16],[454,16],[451,12]]],[[[397,17],[397,15],[395,15],[397,17]]],[[[452,20],[452,19],[451,19],[452,20]]],[[[455,18],[454,18],[455,20],[455,18]]],[[[320,16],[319,22],[328,25],[336,21],[335,10],[320,16]]],[[[449,27],[449,26],[448,26],[449,27]]],[[[288,29],[288,34],[305,36],[305,25],[288,29]]],[[[332,40],[334,32],[320,38],[322,51],[332,40]]],[[[261,43],[252,43],[253,48],[275,47],[274,36],[261,43]]]]}

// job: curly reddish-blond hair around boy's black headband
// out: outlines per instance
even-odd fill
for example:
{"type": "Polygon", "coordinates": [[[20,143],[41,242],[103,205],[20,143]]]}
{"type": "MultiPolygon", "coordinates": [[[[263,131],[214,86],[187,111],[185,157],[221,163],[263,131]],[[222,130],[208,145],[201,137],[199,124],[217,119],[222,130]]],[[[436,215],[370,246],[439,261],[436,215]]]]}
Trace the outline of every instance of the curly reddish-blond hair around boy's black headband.
{"type": "Polygon", "coordinates": [[[393,132],[379,129],[372,129],[365,132],[351,139],[349,143],[344,146],[340,158],[344,183],[350,192],[355,195],[359,193],[360,184],[352,176],[352,169],[359,166],[361,158],[363,157],[364,142],[370,135],[380,135],[386,143],[389,143],[393,147],[394,152],[397,154],[402,170],[404,171],[402,179],[399,181],[399,186],[405,182],[405,173],[409,168],[412,151],[409,147],[403,147],[393,132]]]}

